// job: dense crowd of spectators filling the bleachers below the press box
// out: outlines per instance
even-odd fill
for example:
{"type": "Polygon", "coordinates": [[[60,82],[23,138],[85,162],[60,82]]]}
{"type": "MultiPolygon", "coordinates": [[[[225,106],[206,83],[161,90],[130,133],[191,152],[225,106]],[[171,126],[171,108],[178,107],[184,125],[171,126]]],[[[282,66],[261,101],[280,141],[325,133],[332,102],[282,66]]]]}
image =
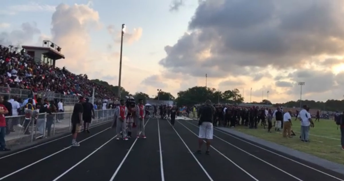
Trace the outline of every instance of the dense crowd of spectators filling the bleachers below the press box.
{"type": "Polygon", "coordinates": [[[99,99],[115,100],[116,95],[108,88],[90,81],[85,75],[76,75],[62,69],[35,61],[21,52],[11,52],[0,45],[0,87],[37,91],[52,91],[64,95],[83,95],[99,99]]]}

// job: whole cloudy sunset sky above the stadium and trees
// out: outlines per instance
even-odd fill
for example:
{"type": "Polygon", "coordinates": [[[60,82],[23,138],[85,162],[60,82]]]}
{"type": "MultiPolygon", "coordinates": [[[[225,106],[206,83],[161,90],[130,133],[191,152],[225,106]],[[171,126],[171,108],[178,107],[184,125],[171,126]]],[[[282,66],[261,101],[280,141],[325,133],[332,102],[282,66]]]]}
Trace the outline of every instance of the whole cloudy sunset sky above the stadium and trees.
{"type": "Polygon", "coordinates": [[[0,43],[62,48],[65,66],[130,93],[239,89],[245,101],[344,96],[342,0],[4,1],[0,43]],[[252,89],[252,91],[250,91],[252,89]],[[269,91],[269,94],[267,93],[269,91]]]}

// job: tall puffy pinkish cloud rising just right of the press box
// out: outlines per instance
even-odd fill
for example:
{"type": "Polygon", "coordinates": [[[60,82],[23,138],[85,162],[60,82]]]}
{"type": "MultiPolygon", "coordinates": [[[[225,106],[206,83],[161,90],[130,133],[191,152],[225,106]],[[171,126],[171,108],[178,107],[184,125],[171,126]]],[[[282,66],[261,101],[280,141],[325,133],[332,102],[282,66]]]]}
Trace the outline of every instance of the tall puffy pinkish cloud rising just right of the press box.
{"type": "Polygon", "coordinates": [[[99,14],[89,4],[59,4],[52,15],[52,41],[62,47],[66,59],[58,60],[57,65],[68,65],[76,73],[90,70],[89,31],[97,30],[99,24],[99,14]]]}

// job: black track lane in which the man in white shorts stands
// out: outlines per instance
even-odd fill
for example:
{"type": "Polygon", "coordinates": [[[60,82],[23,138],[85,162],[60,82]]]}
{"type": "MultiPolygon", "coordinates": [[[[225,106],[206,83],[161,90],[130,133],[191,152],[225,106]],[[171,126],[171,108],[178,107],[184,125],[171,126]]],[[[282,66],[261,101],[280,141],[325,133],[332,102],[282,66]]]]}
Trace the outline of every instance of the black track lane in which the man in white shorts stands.
{"type": "MultiPolygon", "coordinates": [[[[196,151],[198,148],[198,137],[192,132],[188,131],[183,125],[176,122],[175,129],[178,131],[182,139],[189,148],[196,151]]],[[[203,145],[202,154],[195,154],[198,161],[203,165],[204,169],[212,177],[214,181],[222,180],[245,180],[254,181],[252,177],[240,170],[233,163],[228,161],[223,155],[218,154],[214,149],[211,149],[211,154],[206,155],[205,144],[203,145]]]]}

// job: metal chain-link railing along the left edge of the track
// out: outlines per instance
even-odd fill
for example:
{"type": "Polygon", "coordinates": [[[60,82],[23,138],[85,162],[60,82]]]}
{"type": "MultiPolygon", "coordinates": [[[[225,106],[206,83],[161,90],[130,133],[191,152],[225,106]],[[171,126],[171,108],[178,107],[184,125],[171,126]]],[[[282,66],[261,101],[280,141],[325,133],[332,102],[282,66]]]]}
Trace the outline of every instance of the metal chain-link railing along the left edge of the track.
{"type": "MultiPolygon", "coordinates": [[[[73,112],[58,112],[53,114],[42,113],[37,118],[25,119],[24,115],[6,117],[9,130],[5,137],[9,146],[33,142],[56,134],[67,133],[72,129],[73,112]]],[[[95,110],[95,117],[91,125],[111,121],[114,118],[115,109],[95,110]]]]}

